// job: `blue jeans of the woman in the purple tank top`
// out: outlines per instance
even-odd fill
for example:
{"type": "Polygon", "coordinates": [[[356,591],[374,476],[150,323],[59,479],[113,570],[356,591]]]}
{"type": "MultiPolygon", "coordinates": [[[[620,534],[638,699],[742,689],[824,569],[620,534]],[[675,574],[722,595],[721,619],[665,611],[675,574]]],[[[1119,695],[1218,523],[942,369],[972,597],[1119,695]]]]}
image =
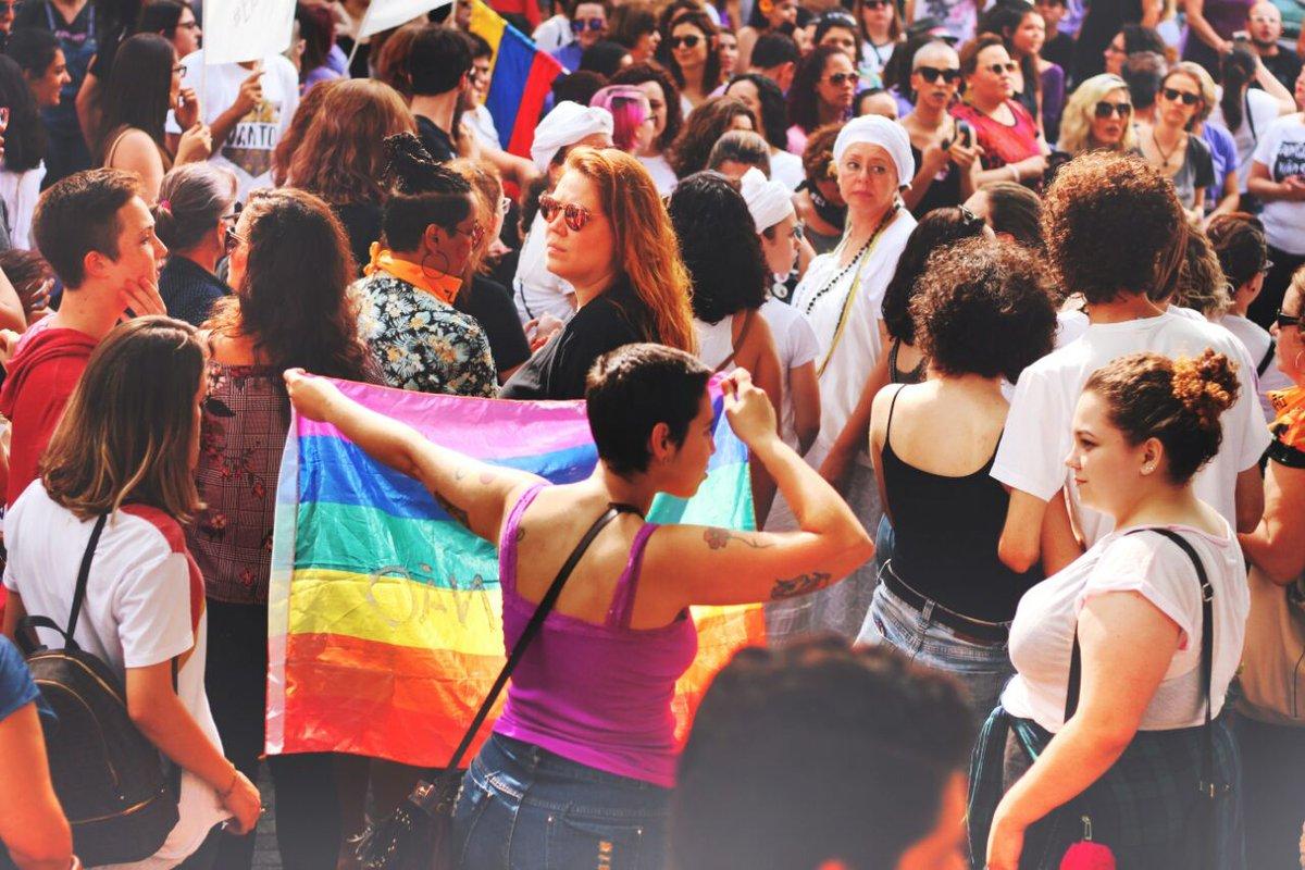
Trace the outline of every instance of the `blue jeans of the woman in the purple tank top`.
{"type": "Polygon", "coordinates": [[[493,734],[453,811],[467,870],[663,870],[671,790],[493,734]]]}

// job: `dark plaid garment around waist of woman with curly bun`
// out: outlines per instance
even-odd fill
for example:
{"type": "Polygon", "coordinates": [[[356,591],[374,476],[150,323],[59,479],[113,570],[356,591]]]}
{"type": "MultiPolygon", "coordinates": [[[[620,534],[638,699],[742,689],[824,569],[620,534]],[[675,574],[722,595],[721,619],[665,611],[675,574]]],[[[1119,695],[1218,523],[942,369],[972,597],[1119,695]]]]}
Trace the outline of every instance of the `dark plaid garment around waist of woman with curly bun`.
{"type": "MultiPolygon", "coordinates": [[[[1199,789],[1201,728],[1139,730],[1124,754],[1082,794],[1032,824],[1021,870],[1057,870],[1084,836],[1111,848],[1117,870],[1245,870],[1241,759],[1228,717],[1211,724],[1216,796],[1199,789]],[[1210,835],[1214,835],[1212,839],[1210,835]]],[[[1052,734],[1000,706],[988,717],[970,763],[970,856],[980,869],[1002,794],[1032,764],[1052,734]]]]}

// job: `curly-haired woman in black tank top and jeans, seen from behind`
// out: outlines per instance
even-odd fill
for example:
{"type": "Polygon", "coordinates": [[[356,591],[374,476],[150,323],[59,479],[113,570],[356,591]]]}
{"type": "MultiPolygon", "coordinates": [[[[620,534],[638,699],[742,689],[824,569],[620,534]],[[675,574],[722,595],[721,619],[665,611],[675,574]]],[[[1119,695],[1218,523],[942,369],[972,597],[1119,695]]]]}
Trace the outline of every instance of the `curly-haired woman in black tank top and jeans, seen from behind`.
{"type": "Polygon", "coordinates": [[[1010,496],[988,471],[1010,410],[1002,380],[1051,350],[1056,309],[1037,258],[989,237],[938,249],[915,291],[929,378],[874,397],[870,459],[894,543],[859,640],[955,676],[977,729],[1011,674],[1010,621],[1037,579],[997,558],[1010,496]]]}

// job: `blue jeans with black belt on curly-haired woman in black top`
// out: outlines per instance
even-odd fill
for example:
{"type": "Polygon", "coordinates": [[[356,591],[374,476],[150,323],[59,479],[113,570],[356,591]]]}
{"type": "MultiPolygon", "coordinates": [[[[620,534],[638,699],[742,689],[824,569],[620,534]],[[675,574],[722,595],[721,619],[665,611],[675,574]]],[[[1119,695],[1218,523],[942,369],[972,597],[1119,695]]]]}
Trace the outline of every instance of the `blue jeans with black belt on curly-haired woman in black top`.
{"type": "Polygon", "coordinates": [[[865,625],[857,643],[889,643],[912,661],[946,672],[960,681],[970,694],[975,734],[997,706],[1006,681],[1015,674],[1005,643],[975,643],[957,637],[949,626],[933,618],[934,603],[916,610],[880,583],[874,588],[865,625]]]}

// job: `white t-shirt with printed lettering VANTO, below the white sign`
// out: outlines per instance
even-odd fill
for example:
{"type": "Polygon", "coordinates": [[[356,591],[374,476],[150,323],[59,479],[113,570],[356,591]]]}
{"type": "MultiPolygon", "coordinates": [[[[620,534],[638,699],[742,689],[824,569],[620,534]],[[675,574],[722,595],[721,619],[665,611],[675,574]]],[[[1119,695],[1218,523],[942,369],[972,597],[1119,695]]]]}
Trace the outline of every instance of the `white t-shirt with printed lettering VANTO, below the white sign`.
{"type": "MultiPolygon", "coordinates": [[[[240,83],[252,73],[240,64],[218,64],[205,70],[202,48],[187,55],[181,65],[185,67],[184,81],[197,93],[202,89],[200,108],[205,124],[213,124],[231,108],[240,94],[240,83]]],[[[236,173],[236,197],[241,202],[248,200],[251,190],[273,187],[271,153],[299,108],[299,73],[294,64],[281,55],[269,55],[262,68],[262,102],[236,121],[226,141],[209,158],[236,173]]],[[[171,115],[168,132],[181,132],[171,115]]]]}

